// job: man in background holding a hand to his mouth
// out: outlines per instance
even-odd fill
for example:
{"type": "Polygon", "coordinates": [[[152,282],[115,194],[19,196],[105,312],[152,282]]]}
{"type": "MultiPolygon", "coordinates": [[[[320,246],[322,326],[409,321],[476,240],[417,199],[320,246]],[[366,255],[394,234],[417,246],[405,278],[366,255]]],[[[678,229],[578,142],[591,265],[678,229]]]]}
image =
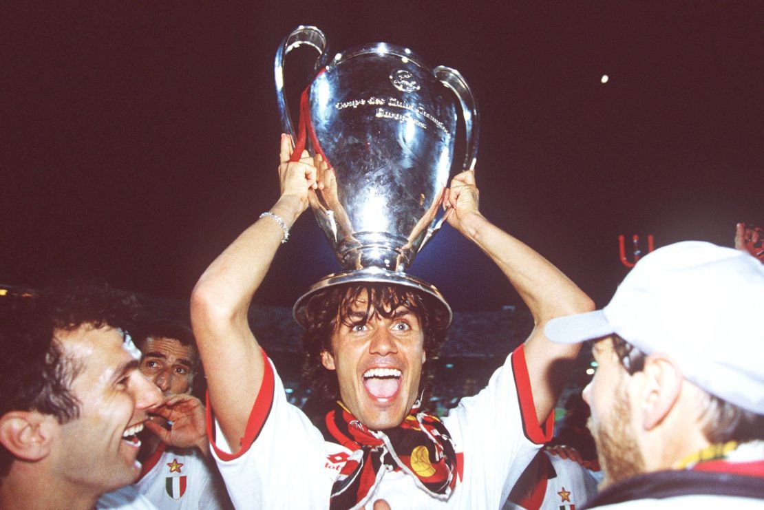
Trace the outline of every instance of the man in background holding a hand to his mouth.
{"type": "Polygon", "coordinates": [[[230,508],[209,457],[202,402],[191,395],[199,354],[191,329],[173,319],[144,319],[134,328],[141,373],[164,394],[140,434],[141,476],[134,486],[106,495],[99,508],[141,508],[143,498],[163,510],[230,508]]]}

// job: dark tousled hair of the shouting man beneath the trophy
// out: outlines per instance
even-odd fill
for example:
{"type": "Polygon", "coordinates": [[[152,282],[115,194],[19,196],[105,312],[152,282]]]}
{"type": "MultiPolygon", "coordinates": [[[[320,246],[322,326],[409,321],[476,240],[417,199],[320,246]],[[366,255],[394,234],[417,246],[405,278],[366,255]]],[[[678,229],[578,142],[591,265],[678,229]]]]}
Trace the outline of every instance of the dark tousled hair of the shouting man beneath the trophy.
{"type": "MultiPolygon", "coordinates": [[[[321,353],[332,352],[332,334],[338,324],[363,325],[374,315],[390,318],[401,306],[417,315],[424,331],[427,360],[422,366],[422,379],[419,381],[419,393],[422,394],[429,390],[433,362],[439,355],[448,328],[448,311],[438,299],[404,286],[367,282],[329,287],[310,297],[305,309],[307,329],[303,334],[303,379],[322,405],[339,398],[336,373],[321,363],[321,353]],[[366,315],[354,319],[351,313],[359,298],[366,301],[366,315]]],[[[422,399],[422,403],[426,402],[426,398],[422,399]]]]}

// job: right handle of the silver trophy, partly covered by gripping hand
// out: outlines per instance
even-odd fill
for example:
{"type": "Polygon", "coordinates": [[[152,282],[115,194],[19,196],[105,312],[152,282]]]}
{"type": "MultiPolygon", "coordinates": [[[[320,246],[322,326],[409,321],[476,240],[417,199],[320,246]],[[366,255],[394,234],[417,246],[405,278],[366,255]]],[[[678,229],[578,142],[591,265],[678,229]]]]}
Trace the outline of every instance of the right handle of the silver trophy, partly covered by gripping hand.
{"type": "MultiPolygon", "coordinates": [[[[467,85],[464,76],[461,76],[456,69],[446,66],[437,66],[432,69],[432,74],[435,78],[439,79],[443,85],[451,89],[456,97],[459,98],[461,103],[461,112],[465,118],[465,163],[462,165],[463,170],[474,170],[475,163],[478,161],[478,142],[480,141],[480,118],[478,116],[478,105],[475,102],[475,98],[472,95],[470,86],[467,85]]],[[[446,184],[448,186],[448,184],[446,184]]],[[[427,229],[422,244],[419,245],[419,250],[427,244],[427,241],[432,238],[432,235],[443,225],[445,221],[445,214],[440,212],[439,218],[436,218],[432,222],[432,226],[427,229]]]]}

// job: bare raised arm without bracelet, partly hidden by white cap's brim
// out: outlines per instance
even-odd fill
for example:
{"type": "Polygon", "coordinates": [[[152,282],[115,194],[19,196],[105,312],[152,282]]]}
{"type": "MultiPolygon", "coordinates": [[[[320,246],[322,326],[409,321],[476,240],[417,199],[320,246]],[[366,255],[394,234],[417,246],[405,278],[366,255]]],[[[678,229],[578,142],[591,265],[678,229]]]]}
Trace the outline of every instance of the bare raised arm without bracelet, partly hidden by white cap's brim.
{"type": "Polygon", "coordinates": [[[552,411],[579,346],[555,344],[544,334],[549,319],[594,309],[594,302],[549,260],[496,225],[478,209],[474,172],[455,176],[445,195],[448,224],[477,244],[528,305],[534,328],[525,343],[526,365],[539,421],[552,411]]]}

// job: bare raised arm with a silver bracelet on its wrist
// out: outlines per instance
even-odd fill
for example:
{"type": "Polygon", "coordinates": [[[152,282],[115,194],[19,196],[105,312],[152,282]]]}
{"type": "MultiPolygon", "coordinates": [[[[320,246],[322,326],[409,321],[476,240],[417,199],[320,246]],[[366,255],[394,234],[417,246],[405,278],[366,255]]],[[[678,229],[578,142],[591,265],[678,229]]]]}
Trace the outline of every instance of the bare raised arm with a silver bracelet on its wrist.
{"type": "MultiPolygon", "coordinates": [[[[290,137],[281,135],[281,196],[270,212],[290,228],[316,189],[316,166],[307,153],[290,159],[290,137]]],[[[191,295],[191,321],[207,376],[209,399],[232,450],[244,436],[260,389],[264,360],[249,329],[247,313],[284,232],[273,217],[258,219],[231,243],[199,278],[191,295]]]]}

